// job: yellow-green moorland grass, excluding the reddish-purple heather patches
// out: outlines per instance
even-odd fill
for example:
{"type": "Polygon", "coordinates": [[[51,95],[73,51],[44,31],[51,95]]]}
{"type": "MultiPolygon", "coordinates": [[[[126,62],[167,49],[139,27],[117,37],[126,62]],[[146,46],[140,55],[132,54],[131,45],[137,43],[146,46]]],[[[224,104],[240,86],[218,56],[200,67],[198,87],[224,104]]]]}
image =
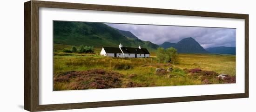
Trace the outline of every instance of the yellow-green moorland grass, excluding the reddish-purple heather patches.
{"type": "MultiPolygon", "coordinates": [[[[94,48],[94,53],[61,53],[62,49],[70,46],[54,44],[55,46],[54,77],[63,72],[100,69],[122,74],[124,77],[120,78],[121,87],[146,87],[222,83],[215,78],[202,80],[195,75],[191,77],[191,73],[185,72],[184,69],[200,68],[206,72],[228,74],[232,78],[236,76],[235,55],[180,53],[178,62],[169,64],[158,63],[154,52],[150,52],[150,58],[111,58],[100,56],[101,48],[94,48]],[[173,71],[162,76],[155,74],[156,68],[167,70],[168,67],[173,67],[173,71]]],[[[75,79],[70,79],[69,82],[54,82],[54,90],[72,90],[77,85],[75,79]]]]}

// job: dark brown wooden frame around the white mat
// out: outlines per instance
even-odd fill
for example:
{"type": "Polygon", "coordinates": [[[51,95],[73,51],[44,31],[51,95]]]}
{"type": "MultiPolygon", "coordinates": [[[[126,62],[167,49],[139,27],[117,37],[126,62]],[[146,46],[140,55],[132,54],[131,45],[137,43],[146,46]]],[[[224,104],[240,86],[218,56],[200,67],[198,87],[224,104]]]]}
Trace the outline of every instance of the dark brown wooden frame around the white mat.
{"type": "Polygon", "coordinates": [[[107,106],[123,106],[123,105],[144,105],[171,102],[214,100],[214,99],[235,99],[249,97],[249,15],[236,13],[215,13],[201,11],[186,11],[158,8],[143,7],[122,7],[122,6],[106,6],[50,1],[27,1],[24,3],[24,37],[25,37],[25,68],[24,68],[24,108],[27,111],[50,111],[64,109],[80,109],[107,106]],[[39,105],[39,7],[50,8],[67,8],[67,9],[83,9],[98,11],[115,11],[115,12],[132,12],[132,13],[155,13],[155,14],[171,14],[185,16],[202,16],[217,18],[235,18],[245,20],[245,90],[244,93],[221,94],[221,95],[204,95],[204,96],[188,96],[188,97],[172,97],[157,99],[133,99],[133,100],[117,100],[117,101],[101,101],[101,102],[84,102],[71,104],[53,104],[39,105]]]}

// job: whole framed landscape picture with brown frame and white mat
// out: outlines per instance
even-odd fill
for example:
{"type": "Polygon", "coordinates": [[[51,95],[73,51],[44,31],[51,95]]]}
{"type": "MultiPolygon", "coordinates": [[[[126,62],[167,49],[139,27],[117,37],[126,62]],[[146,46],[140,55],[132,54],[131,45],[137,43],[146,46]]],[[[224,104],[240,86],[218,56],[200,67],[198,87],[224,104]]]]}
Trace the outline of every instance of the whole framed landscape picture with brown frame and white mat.
{"type": "Polygon", "coordinates": [[[25,2],[27,111],[249,97],[249,15],[25,2]]]}

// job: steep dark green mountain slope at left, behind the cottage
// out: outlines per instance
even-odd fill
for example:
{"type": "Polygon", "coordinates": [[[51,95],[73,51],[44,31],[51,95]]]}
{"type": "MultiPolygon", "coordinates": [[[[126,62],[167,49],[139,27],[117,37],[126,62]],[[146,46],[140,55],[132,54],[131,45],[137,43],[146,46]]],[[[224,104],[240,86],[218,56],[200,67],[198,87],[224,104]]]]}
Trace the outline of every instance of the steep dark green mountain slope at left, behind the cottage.
{"type": "Polygon", "coordinates": [[[124,35],[103,23],[54,21],[54,43],[56,44],[118,47],[122,43],[127,47],[138,47],[139,45],[148,49],[159,47],[149,41],[126,36],[131,36],[131,34],[124,35]]]}

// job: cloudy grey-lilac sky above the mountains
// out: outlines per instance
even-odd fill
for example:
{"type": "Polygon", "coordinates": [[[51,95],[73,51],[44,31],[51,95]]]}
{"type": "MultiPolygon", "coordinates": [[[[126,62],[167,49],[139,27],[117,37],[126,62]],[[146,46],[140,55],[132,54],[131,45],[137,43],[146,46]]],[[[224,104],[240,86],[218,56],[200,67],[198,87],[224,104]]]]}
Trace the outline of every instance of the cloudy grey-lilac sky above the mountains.
{"type": "Polygon", "coordinates": [[[120,30],[130,31],[139,39],[148,40],[158,45],[165,41],[176,43],[183,38],[192,37],[204,48],[216,46],[236,46],[236,29],[233,28],[155,26],[113,23],[107,23],[107,25],[120,30]]]}

